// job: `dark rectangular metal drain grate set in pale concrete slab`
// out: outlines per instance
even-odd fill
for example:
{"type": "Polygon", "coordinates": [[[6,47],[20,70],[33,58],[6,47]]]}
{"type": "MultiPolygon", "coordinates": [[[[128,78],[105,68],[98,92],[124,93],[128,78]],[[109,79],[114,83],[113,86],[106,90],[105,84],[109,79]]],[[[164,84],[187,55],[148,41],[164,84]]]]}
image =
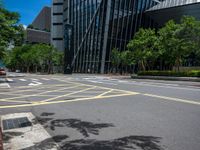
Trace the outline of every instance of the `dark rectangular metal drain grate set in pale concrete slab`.
{"type": "Polygon", "coordinates": [[[3,120],[3,129],[4,130],[24,128],[24,127],[28,127],[28,126],[32,126],[32,123],[28,120],[27,117],[3,120]]]}

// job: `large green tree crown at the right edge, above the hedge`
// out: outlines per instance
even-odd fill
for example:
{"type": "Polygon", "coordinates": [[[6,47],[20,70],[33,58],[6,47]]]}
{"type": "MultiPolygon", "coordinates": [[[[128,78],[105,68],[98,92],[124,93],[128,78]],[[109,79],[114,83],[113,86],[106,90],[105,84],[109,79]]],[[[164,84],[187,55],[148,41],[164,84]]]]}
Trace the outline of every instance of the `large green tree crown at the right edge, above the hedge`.
{"type": "Polygon", "coordinates": [[[179,71],[182,62],[199,49],[199,33],[199,23],[193,17],[183,17],[180,24],[169,21],[159,30],[160,58],[179,71]]]}

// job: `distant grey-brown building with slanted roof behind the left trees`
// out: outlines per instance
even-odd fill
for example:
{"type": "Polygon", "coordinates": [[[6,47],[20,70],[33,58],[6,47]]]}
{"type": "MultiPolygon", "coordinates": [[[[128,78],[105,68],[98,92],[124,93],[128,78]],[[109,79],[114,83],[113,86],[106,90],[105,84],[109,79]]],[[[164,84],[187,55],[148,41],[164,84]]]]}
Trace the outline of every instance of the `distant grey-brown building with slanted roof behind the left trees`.
{"type": "Polygon", "coordinates": [[[26,29],[26,43],[51,44],[51,8],[44,7],[31,24],[32,28],[26,29]]]}

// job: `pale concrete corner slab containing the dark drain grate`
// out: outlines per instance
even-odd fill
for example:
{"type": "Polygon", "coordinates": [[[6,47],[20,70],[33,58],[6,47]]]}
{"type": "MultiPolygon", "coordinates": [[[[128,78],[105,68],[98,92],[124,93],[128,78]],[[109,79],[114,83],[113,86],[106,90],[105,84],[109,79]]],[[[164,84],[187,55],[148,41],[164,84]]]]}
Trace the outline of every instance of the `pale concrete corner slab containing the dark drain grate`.
{"type": "Polygon", "coordinates": [[[49,133],[30,112],[3,115],[1,126],[5,150],[58,149],[49,133]]]}

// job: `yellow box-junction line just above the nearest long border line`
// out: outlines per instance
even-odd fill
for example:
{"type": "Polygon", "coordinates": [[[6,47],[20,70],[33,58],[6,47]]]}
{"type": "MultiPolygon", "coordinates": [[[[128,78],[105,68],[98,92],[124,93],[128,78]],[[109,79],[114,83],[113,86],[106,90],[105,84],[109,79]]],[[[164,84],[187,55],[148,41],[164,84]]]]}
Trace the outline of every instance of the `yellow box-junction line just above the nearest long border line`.
{"type": "Polygon", "coordinates": [[[52,91],[45,91],[45,92],[41,92],[41,93],[37,93],[37,94],[23,95],[23,96],[12,97],[12,98],[4,98],[4,100],[12,100],[12,99],[16,99],[16,98],[26,98],[26,97],[30,97],[30,96],[38,96],[38,95],[42,95],[42,94],[47,94],[47,93],[51,93],[51,92],[72,89],[72,88],[76,88],[76,87],[80,87],[80,86],[76,85],[76,86],[67,87],[67,88],[61,88],[61,89],[56,89],[56,90],[52,90],[52,91]]]}

